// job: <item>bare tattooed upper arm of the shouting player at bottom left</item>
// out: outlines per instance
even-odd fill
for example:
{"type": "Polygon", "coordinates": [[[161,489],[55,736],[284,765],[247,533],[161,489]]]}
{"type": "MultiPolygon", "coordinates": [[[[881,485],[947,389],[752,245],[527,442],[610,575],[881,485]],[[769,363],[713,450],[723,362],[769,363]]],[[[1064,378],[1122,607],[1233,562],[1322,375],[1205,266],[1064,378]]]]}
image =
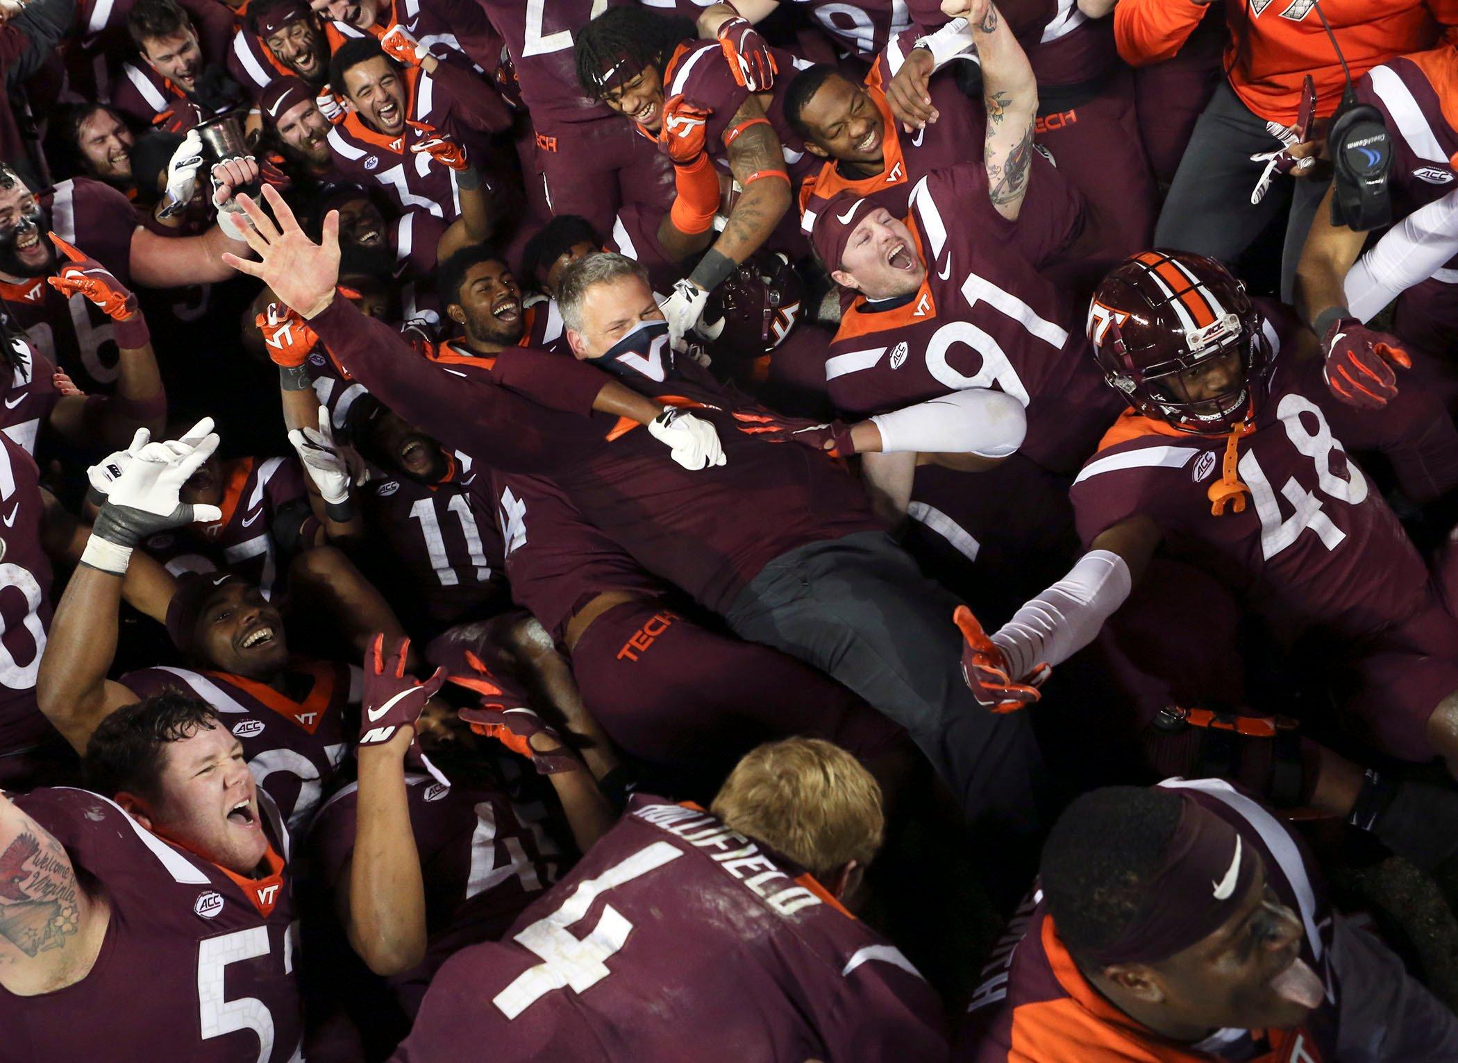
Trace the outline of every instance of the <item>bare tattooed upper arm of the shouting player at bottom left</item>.
{"type": "Polygon", "coordinates": [[[0,986],[38,996],[96,963],[108,909],[76,878],[64,846],[0,792],[0,986]]]}

